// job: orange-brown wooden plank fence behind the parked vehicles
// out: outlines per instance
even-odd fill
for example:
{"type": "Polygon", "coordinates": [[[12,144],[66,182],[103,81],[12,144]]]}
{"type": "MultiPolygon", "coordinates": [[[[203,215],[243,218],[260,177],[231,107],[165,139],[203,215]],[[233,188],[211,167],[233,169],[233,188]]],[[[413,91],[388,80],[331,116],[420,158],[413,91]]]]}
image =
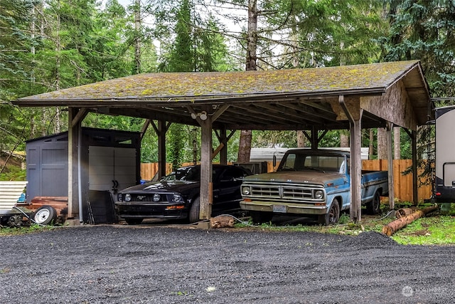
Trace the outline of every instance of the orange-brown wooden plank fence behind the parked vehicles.
{"type": "MultiPolygon", "coordinates": [[[[189,165],[192,163],[184,164],[189,165]]],[[[393,190],[395,201],[412,202],[412,173],[404,175],[412,165],[412,159],[394,159],[393,160],[393,190]]],[[[269,172],[273,171],[272,162],[267,163],[269,172]]],[[[373,171],[387,171],[387,159],[363,159],[362,169],[373,171]]],[[[166,164],[166,174],[172,171],[172,164],[166,164]]],[[[158,172],[158,163],[141,164],[141,179],[151,180],[158,172]]],[[[431,184],[419,184],[417,189],[418,201],[429,199],[432,196],[431,184]]]]}

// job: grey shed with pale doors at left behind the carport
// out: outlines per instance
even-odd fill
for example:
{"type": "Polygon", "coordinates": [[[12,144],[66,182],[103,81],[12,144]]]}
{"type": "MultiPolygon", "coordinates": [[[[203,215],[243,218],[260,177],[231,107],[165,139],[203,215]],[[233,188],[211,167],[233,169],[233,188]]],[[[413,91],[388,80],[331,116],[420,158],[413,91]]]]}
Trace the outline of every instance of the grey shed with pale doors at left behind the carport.
{"type": "MultiPolygon", "coordinates": [[[[83,204],[109,204],[118,189],[139,184],[139,132],[82,127],[81,134],[77,184],[83,204]]],[[[36,196],[68,196],[68,132],[28,140],[26,154],[27,202],[36,196]]]]}

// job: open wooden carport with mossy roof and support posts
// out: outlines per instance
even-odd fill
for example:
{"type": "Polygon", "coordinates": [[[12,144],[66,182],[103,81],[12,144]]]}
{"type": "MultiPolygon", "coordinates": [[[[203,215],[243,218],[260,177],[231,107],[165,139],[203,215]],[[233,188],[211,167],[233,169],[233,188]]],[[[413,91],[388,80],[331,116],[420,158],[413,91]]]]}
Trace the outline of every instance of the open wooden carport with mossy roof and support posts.
{"type": "MultiPolygon", "coordinates": [[[[429,120],[430,96],[419,61],[331,68],[211,73],[146,73],[14,101],[21,107],[68,107],[68,216],[79,216],[77,142],[88,112],[146,119],[159,136],[159,175],[165,173],[166,131],[173,122],[201,128],[200,219],[211,214],[214,153],[227,162],[235,130],[303,130],[317,148],[328,130],[350,130],[350,217],[360,221],[362,128],[387,128],[389,182],[392,128],[412,140],[414,202],[417,202],[417,126],[429,120]],[[212,131],[220,141],[213,152],[212,131]]],[[[393,208],[393,188],[390,207],[393,208]]]]}

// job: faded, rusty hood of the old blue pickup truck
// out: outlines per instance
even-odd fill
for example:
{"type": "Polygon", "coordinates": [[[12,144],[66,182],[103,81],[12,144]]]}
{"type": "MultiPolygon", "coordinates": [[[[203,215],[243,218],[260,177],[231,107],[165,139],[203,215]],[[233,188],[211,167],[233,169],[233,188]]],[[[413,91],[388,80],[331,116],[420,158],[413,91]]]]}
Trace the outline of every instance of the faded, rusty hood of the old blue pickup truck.
{"type": "Polygon", "coordinates": [[[282,172],[270,172],[258,175],[250,175],[245,177],[245,182],[284,182],[291,184],[321,184],[327,186],[327,184],[333,184],[337,186],[339,184],[345,184],[348,179],[346,175],[336,172],[316,172],[316,171],[282,171],[282,172]]]}

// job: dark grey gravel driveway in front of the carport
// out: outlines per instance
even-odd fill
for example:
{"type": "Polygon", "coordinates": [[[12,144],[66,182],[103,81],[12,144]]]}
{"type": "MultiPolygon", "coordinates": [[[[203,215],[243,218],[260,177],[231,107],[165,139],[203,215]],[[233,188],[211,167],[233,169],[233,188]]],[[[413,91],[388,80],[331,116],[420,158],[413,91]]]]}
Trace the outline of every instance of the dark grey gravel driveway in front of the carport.
{"type": "Polygon", "coordinates": [[[0,237],[1,303],[455,303],[455,246],[375,232],[77,226],[0,237]]]}

